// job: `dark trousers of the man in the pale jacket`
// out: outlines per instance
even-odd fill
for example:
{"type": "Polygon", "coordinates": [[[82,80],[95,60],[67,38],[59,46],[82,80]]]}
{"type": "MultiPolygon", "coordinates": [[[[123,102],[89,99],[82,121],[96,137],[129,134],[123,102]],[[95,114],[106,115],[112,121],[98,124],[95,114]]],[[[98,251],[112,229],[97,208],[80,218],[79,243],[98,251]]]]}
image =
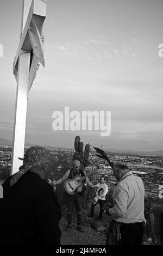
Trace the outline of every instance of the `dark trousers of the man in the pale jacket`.
{"type": "Polygon", "coordinates": [[[143,240],[143,222],[120,224],[122,245],[141,245],[143,240]]]}

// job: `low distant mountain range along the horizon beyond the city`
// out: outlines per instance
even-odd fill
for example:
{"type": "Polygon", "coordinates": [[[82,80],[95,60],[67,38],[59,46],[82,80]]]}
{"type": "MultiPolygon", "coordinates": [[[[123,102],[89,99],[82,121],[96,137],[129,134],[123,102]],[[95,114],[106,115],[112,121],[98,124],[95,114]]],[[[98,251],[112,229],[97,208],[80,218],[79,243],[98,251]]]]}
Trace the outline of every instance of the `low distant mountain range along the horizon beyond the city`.
{"type": "MultiPolygon", "coordinates": [[[[10,141],[9,139],[3,139],[0,138],[0,145],[12,145],[12,141],[10,141]]],[[[34,146],[34,144],[31,143],[26,143],[25,144],[27,147],[32,147],[34,146]]],[[[62,148],[62,147],[52,147],[49,145],[40,145],[42,147],[46,147],[46,148],[62,148]]],[[[66,147],[65,147],[66,148],[66,147]]],[[[137,155],[155,155],[155,156],[163,156],[163,150],[157,150],[157,151],[136,151],[136,150],[128,150],[128,149],[103,149],[106,152],[110,152],[110,153],[126,153],[126,154],[137,154],[137,155]]]]}

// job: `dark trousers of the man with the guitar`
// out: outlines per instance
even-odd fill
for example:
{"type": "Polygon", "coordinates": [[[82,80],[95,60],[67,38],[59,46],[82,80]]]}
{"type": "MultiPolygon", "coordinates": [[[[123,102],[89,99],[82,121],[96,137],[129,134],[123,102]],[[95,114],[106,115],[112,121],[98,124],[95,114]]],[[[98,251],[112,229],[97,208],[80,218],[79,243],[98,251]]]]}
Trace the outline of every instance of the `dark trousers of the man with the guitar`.
{"type": "Polygon", "coordinates": [[[74,206],[76,208],[77,212],[77,224],[78,226],[82,224],[82,203],[83,203],[83,197],[81,194],[73,194],[73,195],[67,195],[67,206],[68,206],[68,212],[67,212],[67,221],[68,224],[71,224],[72,222],[72,213],[74,211],[74,206]]]}

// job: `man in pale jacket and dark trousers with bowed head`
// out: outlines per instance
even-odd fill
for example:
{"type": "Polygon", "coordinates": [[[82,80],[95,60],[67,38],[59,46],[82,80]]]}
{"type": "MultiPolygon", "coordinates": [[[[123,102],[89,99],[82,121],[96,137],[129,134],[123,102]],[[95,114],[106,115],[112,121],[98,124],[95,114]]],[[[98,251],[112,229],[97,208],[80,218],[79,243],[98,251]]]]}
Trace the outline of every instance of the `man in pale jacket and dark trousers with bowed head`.
{"type": "Polygon", "coordinates": [[[141,245],[145,221],[143,181],[122,162],[114,165],[113,173],[118,184],[112,194],[114,206],[106,213],[120,225],[122,245],[141,245]]]}

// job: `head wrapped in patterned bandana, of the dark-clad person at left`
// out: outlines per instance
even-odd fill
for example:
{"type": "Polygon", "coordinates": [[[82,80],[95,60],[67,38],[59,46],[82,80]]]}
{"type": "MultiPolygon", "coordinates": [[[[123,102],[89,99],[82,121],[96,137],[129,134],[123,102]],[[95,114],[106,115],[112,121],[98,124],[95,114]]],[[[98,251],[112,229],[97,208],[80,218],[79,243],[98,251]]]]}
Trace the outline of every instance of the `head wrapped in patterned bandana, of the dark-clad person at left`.
{"type": "MultiPolygon", "coordinates": [[[[35,172],[41,176],[42,179],[47,179],[51,172],[51,157],[48,150],[45,148],[34,146],[30,147],[24,155],[23,166],[24,172],[35,172]]],[[[22,168],[21,167],[21,168],[22,168]]],[[[20,168],[20,169],[21,169],[20,168]]]]}

